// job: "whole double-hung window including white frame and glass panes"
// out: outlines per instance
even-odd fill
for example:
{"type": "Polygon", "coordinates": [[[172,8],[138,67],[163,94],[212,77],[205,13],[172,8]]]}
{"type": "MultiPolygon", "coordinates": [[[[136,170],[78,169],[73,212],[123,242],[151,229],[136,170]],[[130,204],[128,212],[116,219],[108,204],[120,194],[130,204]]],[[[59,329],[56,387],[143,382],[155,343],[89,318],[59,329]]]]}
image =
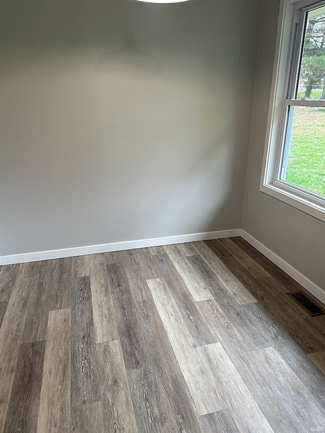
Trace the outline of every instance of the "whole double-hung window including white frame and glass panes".
{"type": "Polygon", "coordinates": [[[325,221],[325,1],[282,5],[260,189],[325,221]]]}

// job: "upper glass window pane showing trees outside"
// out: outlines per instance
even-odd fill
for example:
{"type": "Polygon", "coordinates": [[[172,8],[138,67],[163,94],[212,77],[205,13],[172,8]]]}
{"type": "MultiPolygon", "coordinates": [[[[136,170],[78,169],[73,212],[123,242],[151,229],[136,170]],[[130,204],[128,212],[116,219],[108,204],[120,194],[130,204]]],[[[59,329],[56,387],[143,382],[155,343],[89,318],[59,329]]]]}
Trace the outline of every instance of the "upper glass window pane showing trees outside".
{"type": "Polygon", "coordinates": [[[325,99],[325,6],[307,14],[297,99],[325,99]]]}

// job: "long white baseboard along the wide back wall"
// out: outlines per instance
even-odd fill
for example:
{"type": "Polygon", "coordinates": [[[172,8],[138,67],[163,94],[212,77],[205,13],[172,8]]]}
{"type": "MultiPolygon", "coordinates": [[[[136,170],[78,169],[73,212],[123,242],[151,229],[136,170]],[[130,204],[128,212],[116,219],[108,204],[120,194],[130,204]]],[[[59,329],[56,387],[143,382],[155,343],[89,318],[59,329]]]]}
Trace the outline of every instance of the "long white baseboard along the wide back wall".
{"type": "Polygon", "coordinates": [[[136,248],[157,247],[160,245],[184,244],[186,242],[208,241],[210,239],[233,238],[240,236],[241,229],[210,231],[192,235],[169,236],[167,238],[142,239],[139,241],[116,242],[112,244],[90,245],[87,247],[64,248],[60,250],[38,251],[25,254],[12,254],[0,257],[0,265],[25,263],[28,261],[51,260],[62,257],[107,253],[110,251],[133,250],[136,248]]]}

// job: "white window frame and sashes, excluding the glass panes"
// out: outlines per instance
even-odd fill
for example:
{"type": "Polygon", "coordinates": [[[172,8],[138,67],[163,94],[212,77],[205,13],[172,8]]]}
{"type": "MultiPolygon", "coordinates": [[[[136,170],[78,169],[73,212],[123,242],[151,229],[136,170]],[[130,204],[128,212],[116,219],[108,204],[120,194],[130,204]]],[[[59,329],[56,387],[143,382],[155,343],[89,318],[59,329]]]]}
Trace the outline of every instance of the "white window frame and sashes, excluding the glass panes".
{"type": "Polygon", "coordinates": [[[281,0],[276,55],[267,125],[267,139],[259,189],[282,202],[325,221],[325,197],[280,180],[289,106],[324,107],[325,101],[289,99],[299,73],[299,47],[304,37],[304,17],[325,5],[325,0],[281,0]]]}

